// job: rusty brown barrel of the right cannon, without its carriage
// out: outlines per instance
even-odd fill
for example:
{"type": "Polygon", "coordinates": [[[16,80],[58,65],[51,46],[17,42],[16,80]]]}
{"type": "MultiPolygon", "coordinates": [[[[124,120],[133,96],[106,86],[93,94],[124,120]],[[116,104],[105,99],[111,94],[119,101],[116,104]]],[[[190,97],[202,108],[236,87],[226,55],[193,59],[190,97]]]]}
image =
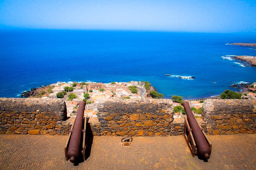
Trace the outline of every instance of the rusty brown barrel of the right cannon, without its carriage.
{"type": "Polygon", "coordinates": [[[199,127],[196,118],[194,117],[194,114],[191,111],[191,108],[189,107],[188,101],[184,101],[182,105],[186,111],[189,126],[192,129],[192,135],[194,136],[194,140],[197,146],[197,153],[199,154],[199,156],[204,158],[204,160],[207,160],[210,158],[211,153],[209,144],[207,143],[204,134],[201,128],[199,127]]]}

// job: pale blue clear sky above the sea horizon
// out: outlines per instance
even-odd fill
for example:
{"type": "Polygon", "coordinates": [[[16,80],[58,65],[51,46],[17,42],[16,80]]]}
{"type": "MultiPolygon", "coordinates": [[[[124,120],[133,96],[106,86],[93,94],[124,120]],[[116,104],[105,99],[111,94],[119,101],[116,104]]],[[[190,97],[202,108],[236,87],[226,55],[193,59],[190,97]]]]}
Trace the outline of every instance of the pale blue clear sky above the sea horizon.
{"type": "Polygon", "coordinates": [[[256,32],[256,0],[0,0],[1,28],[256,32]]]}

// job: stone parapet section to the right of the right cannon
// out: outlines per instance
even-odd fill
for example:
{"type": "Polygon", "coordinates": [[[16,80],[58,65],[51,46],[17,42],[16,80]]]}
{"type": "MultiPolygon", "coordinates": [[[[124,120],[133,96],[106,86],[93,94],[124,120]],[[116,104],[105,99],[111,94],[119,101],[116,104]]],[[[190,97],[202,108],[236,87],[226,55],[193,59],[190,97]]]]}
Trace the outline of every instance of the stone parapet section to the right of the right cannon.
{"type": "Polygon", "coordinates": [[[256,104],[251,99],[207,99],[202,118],[210,135],[256,133],[256,104]]]}

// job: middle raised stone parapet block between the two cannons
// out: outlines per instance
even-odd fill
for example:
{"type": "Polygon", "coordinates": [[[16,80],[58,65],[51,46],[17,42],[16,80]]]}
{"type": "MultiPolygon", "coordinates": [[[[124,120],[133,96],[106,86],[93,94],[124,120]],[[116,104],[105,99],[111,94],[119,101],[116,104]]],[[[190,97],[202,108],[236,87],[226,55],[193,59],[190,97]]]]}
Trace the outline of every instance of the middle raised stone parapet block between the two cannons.
{"type": "Polygon", "coordinates": [[[98,105],[101,135],[169,135],[173,122],[170,99],[103,99],[98,105]]]}

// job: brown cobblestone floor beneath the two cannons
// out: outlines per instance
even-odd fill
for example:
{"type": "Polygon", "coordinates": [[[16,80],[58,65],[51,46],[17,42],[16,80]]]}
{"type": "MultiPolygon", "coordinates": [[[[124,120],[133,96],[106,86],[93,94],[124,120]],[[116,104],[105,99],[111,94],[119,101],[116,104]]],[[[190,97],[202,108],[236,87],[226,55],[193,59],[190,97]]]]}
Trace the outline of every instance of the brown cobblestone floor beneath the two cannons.
{"type": "Polygon", "coordinates": [[[67,136],[0,135],[0,169],[256,169],[256,134],[209,136],[208,162],[192,157],[183,136],[134,137],[123,147],[121,137],[96,136],[90,156],[79,165],[65,161],[67,136]]]}

